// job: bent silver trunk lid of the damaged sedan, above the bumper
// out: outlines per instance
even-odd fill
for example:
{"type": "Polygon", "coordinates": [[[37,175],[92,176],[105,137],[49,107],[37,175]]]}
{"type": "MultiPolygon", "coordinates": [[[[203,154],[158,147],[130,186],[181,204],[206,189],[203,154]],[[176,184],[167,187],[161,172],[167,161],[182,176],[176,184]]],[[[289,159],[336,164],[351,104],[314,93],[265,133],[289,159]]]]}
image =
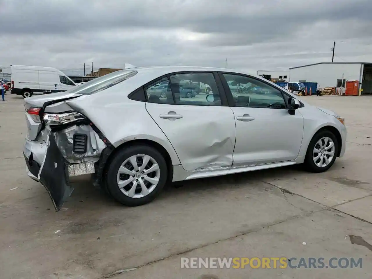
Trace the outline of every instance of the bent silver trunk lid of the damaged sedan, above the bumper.
{"type": "MultiPolygon", "coordinates": [[[[28,113],[29,108],[43,108],[44,110],[47,106],[53,103],[74,99],[79,96],[81,96],[81,94],[59,92],[25,98],[23,105],[25,106],[26,111],[27,138],[34,141],[43,127],[42,121],[35,121],[35,117],[28,113]]],[[[41,113],[43,110],[41,110],[41,113]]]]}

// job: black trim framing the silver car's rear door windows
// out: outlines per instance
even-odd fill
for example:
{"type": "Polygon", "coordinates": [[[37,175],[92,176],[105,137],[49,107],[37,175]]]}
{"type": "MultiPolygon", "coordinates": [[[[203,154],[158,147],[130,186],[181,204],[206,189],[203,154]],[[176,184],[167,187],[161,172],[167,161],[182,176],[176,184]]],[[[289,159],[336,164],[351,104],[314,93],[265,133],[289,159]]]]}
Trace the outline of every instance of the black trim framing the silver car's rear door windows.
{"type": "MultiPolygon", "coordinates": [[[[178,71],[178,72],[172,72],[172,73],[169,73],[169,74],[165,74],[163,76],[160,76],[160,77],[157,77],[153,80],[151,80],[150,82],[148,83],[145,83],[143,86],[141,86],[143,88],[143,91],[145,93],[145,99],[146,99],[146,102],[148,102],[148,97],[147,97],[147,93],[146,93],[146,88],[148,86],[150,86],[151,84],[157,82],[157,81],[160,81],[162,80],[164,77],[167,77],[168,78],[168,81],[171,85],[171,82],[170,82],[170,76],[174,76],[174,75],[177,75],[177,74],[213,74],[213,77],[215,79],[215,82],[216,82],[216,85],[217,85],[217,89],[218,89],[218,93],[219,93],[219,97],[221,99],[221,105],[202,105],[202,104],[177,104],[176,103],[176,100],[174,98],[174,93],[172,91],[172,95],[173,95],[173,104],[167,104],[167,103],[164,103],[163,105],[181,105],[181,106],[211,106],[211,107],[215,107],[215,106],[229,106],[229,103],[228,103],[228,99],[227,99],[227,96],[226,96],[226,92],[224,90],[224,87],[222,86],[222,83],[221,83],[221,80],[218,76],[218,72],[216,71],[178,71]]],[[[172,89],[172,86],[171,86],[171,89],[172,89]]],[[[137,91],[138,89],[134,90],[134,91],[137,91]]],[[[131,99],[131,96],[133,95],[133,92],[130,93],[128,95],[129,99],[131,99]]],[[[207,96],[205,94],[205,96],[207,96]]]]}

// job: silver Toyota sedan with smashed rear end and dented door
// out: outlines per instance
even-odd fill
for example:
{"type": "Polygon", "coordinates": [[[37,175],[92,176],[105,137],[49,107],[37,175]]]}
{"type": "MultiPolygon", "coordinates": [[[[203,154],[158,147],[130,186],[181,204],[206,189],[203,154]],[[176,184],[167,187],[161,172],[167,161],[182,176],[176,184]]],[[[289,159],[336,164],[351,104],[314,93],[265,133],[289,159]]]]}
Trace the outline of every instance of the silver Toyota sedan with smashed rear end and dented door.
{"type": "Polygon", "coordinates": [[[73,190],[70,178],[82,174],[137,206],[167,183],[301,163],[321,172],[345,152],[336,113],[226,69],[132,68],[24,105],[26,170],[57,211],[73,190]],[[185,84],[211,90],[188,98],[185,84]],[[151,93],[160,87],[163,94],[151,93]]]}

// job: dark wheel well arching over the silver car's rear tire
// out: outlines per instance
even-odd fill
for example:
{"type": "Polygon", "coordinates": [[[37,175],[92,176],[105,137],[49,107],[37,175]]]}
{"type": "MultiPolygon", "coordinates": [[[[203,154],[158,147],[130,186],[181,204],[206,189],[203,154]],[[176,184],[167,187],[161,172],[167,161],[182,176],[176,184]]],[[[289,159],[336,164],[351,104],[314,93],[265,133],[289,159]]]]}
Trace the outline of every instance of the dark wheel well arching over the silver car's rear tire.
{"type": "Polygon", "coordinates": [[[110,156],[109,156],[109,158],[108,158],[108,160],[105,164],[104,173],[106,173],[107,167],[109,166],[112,158],[115,157],[115,154],[118,153],[118,151],[122,150],[123,148],[127,148],[127,147],[133,146],[133,145],[148,145],[150,147],[155,148],[157,151],[159,151],[160,154],[163,155],[163,157],[164,157],[164,159],[167,163],[167,168],[168,168],[168,181],[167,181],[167,183],[172,182],[172,180],[173,180],[173,164],[172,164],[172,160],[170,158],[170,155],[167,152],[167,150],[163,146],[161,146],[161,144],[158,144],[157,142],[151,141],[151,140],[132,140],[132,141],[126,141],[123,144],[119,145],[110,154],[110,156]]]}

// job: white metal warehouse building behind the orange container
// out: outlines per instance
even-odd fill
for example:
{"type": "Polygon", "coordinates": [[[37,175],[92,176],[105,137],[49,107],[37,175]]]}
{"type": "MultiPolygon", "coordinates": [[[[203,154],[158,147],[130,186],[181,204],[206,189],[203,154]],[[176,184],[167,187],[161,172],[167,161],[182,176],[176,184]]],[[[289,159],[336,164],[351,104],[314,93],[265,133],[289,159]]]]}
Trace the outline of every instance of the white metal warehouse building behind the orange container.
{"type": "Polygon", "coordinates": [[[347,81],[358,81],[359,95],[372,93],[372,63],[323,62],[289,68],[289,81],[317,82],[318,88],[336,87],[344,92],[347,81]]]}

